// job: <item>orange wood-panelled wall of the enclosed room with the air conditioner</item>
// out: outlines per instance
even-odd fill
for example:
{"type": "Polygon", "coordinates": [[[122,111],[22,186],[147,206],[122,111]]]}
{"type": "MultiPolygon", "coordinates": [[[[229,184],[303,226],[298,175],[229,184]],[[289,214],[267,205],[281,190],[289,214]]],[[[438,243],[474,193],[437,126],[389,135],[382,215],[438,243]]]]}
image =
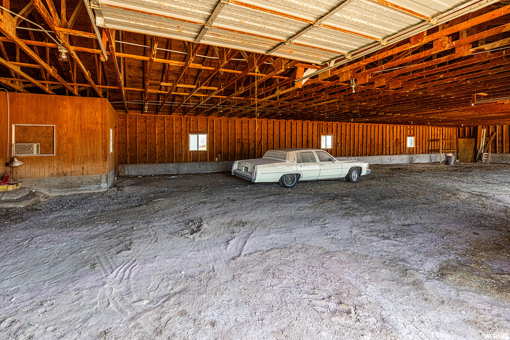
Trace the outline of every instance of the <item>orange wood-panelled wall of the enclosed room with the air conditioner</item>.
{"type": "MultiPolygon", "coordinates": [[[[107,99],[14,92],[9,99],[11,126],[56,125],[56,154],[17,157],[24,164],[14,169],[15,179],[98,175],[116,167],[115,153],[108,162],[108,126],[115,126],[116,113],[107,99]]],[[[0,165],[12,159],[7,128],[7,93],[0,92],[0,165]]],[[[6,170],[1,166],[0,175],[6,170]]]]}

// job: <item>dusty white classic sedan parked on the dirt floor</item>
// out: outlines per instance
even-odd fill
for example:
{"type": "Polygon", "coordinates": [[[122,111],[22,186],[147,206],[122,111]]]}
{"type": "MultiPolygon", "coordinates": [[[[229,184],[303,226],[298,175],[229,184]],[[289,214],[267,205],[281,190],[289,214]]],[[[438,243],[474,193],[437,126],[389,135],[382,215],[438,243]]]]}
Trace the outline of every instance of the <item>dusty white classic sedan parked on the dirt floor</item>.
{"type": "Polygon", "coordinates": [[[339,161],[321,149],[276,149],[263,158],[236,161],[232,174],[253,183],[278,182],[292,188],[298,180],[345,178],[356,182],[361,175],[370,174],[368,163],[339,161]]]}

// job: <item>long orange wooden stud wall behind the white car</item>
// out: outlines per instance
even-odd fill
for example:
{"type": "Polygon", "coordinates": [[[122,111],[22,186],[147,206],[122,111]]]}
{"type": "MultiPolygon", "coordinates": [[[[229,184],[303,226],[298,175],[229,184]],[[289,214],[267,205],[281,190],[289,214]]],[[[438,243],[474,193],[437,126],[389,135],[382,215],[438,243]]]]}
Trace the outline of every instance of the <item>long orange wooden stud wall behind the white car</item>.
{"type": "Polygon", "coordinates": [[[320,148],[322,134],[333,135],[334,156],[430,153],[456,139],[456,128],[309,121],[155,116],[118,113],[119,164],[211,162],[259,158],[269,149],[320,148]],[[189,151],[188,135],[206,133],[207,151],[189,151]],[[406,137],[415,136],[415,148],[406,137]]]}

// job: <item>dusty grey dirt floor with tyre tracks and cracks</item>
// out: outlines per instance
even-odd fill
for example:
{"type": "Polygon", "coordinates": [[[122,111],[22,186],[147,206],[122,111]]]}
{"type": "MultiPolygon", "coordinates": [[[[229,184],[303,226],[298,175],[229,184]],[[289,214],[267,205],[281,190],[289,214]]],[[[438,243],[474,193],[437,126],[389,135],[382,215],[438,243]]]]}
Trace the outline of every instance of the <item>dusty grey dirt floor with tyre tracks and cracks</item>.
{"type": "Polygon", "coordinates": [[[0,339],[510,339],[510,166],[0,206],[0,339]]]}

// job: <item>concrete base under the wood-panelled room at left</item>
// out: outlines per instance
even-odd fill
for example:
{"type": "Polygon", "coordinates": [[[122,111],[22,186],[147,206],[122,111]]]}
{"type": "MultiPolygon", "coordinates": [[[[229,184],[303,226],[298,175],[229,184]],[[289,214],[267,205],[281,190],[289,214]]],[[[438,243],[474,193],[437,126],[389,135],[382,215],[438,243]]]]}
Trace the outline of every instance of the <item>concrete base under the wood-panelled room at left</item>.
{"type": "MultiPolygon", "coordinates": [[[[68,195],[107,190],[110,186],[110,174],[66,177],[22,178],[23,187],[40,191],[46,195],[68,195]]],[[[113,176],[111,181],[113,182],[113,176]]]]}

